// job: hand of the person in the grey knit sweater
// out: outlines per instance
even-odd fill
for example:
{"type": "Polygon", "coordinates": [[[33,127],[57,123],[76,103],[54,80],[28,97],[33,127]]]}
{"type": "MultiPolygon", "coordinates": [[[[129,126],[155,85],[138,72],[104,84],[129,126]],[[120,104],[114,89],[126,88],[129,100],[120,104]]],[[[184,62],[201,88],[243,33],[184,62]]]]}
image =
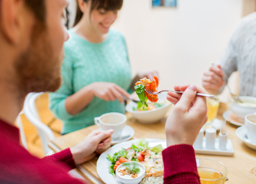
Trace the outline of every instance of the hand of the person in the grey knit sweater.
{"type": "Polygon", "coordinates": [[[217,92],[225,85],[225,74],[220,65],[212,65],[210,69],[204,73],[203,86],[210,94],[217,92]]]}

